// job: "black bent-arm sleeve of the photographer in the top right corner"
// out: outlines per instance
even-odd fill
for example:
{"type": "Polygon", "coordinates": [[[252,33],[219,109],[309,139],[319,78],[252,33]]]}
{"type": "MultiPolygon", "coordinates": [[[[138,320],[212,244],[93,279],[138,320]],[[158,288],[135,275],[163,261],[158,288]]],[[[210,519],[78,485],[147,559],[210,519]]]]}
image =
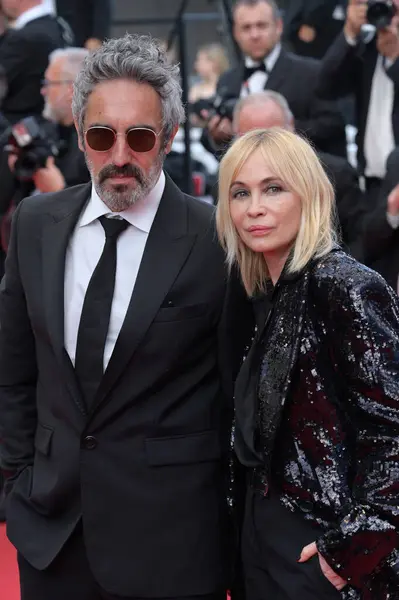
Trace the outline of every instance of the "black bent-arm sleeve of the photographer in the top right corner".
{"type": "Polygon", "coordinates": [[[361,68],[359,48],[348,44],[340,33],[321,61],[316,93],[329,100],[355,93],[361,68]]]}

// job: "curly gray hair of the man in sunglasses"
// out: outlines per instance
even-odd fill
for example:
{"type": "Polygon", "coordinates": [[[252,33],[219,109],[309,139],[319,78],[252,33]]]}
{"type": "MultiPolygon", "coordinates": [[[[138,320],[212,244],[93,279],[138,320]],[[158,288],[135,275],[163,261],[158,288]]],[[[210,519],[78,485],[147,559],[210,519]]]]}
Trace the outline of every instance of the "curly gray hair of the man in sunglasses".
{"type": "Polygon", "coordinates": [[[149,35],[126,34],[118,39],[107,40],[86,58],[76,78],[72,99],[72,112],[80,135],[83,137],[84,134],[90,94],[99,83],[115,79],[147,83],[158,93],[162,103],[166,143],[173,129],[185,120],[180,70],[178,65],[168,62],[161,46],[149,35]]]}

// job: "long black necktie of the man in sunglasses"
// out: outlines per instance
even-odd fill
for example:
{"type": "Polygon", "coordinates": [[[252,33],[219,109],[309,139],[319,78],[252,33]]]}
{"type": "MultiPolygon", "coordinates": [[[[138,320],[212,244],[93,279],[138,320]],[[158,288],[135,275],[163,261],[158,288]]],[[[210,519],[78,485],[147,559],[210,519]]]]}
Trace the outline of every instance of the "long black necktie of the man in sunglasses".
{"type": "Polygon", "coordinates": [[[104,372],[104,347],[108,334],[116,274],[116,242],[128,227],[124,219],[100,217],[105,245],[87,287],[80,317],[75,372],[89,409],[104,372]]]}

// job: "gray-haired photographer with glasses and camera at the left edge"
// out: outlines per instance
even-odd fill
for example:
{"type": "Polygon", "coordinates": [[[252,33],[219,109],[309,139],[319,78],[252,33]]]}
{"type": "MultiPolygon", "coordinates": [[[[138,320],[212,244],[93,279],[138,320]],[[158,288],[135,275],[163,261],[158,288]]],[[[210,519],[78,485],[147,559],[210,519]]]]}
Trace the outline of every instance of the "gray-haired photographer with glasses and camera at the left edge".
{"type": "Polygon", "coordinates": [[[0,162],[1,244],[5,251],[12,214],[23,198],[90,180],[72,116],[73,82],[88,54],[84,48],[65,48],[50,55],[42,87],[43,118],[33,123],[39,135],[27,148],[18,148],[15,135],[10,136],[13,141],[6,147],[8,154],[4,152],[0,162]],[[43,167],[38,168],[41,162],[43,167]]]}

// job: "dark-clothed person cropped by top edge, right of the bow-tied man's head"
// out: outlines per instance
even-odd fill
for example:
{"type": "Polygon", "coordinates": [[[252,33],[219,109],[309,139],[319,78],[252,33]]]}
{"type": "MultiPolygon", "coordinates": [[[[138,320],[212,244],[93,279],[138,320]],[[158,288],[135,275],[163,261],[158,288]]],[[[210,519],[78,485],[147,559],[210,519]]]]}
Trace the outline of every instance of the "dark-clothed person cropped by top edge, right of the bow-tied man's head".
{"type": "Polygon", "coordinates": [[[301,56],[322,58],[342,30],[346,0],[290,0],[284,39],[301,56]]]}

